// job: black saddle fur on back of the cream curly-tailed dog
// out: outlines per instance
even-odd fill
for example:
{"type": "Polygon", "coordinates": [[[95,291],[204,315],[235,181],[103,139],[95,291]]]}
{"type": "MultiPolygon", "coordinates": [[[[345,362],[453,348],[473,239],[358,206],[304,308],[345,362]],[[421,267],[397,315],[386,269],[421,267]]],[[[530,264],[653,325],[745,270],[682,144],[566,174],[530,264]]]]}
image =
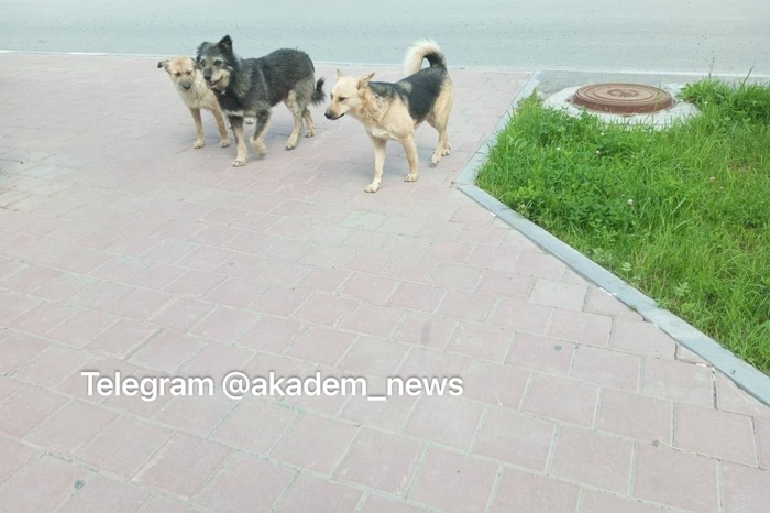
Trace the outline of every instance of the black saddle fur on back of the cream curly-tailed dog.
{"type": "Polygon", "coordinates": [[[372,91],[383,98],[398,96],[409,108],[409,116],[417,121],[425,121],[433,108],[441,87],[447,80],[447,66],[443,58],[433,54],[426,55],[430,67],[420,69],[414,75],[402,78],[395,84],[371,81],[372,91]]]}

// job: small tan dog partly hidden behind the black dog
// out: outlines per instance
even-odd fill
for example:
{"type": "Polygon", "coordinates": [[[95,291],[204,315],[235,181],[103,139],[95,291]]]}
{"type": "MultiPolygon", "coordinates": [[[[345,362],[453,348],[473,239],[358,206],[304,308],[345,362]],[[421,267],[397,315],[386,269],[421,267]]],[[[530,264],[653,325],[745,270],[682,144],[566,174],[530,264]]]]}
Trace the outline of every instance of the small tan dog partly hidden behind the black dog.
{"type": "Polygon", "coordinates": [[[164,68],[172,81],[176,86],[176,91],[182,97],[182,101],[190,109],[193,120],[195,121],[195,131],[198,133],[198,140],[193,144],[193,148],[204,148],[206,144],[206,134],[204,133],[204,123],[200,119],[200,109],[210,110],[213,119],[217,120],[219,137],[221,141],[219,145],[227,148],[230,145],[228,137],[228,128],[224,125],[224,118],[219,108],[219,102],[213,92],[206,86],[204,75],[200,73],[198,65],[193,57],[174,57],[167,61],[157,63],[157,67],[164,68]]]}

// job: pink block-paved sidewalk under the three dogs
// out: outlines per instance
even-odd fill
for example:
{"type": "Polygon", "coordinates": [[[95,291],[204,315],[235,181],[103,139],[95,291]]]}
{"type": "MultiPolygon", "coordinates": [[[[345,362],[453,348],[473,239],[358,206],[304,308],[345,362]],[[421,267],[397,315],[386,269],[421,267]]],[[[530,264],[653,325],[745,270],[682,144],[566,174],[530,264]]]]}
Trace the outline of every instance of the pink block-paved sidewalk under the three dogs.
{"type": "MultiPolygon", "coordinates": [[[[231,167],[156,61],[0,54],[0,511],[760,512],[770,408],[452,187],[529,74],[453,69],[381,190],[352,119],[231,167]],[[88,394],[461,376],[461,396],[88,394]]],[[[333,81],[337,66],[318,66],[333,81]]],[[[393,68],[377,70],[394,79],[393,68]]]]}

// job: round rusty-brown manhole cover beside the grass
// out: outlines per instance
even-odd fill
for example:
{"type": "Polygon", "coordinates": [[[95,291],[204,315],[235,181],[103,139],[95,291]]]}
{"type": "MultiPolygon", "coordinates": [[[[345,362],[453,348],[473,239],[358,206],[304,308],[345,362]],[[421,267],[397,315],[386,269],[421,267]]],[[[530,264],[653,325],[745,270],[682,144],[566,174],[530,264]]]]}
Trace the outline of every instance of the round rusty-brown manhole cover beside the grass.
{"type": "Polygon", "coordinates": [[[590,110],[614,114],[644,114],[673,107],[673,98],[662,89],[639,84],[595,84],[583,86],[572,102],[590,110]]]}

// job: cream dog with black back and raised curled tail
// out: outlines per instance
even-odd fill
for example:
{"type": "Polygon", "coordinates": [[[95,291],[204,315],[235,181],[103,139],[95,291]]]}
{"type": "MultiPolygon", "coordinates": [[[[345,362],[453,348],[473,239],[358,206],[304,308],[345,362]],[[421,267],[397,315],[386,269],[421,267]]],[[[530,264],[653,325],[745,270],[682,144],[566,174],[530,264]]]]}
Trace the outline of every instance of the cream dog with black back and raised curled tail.
{"type": "Polygon", "coordinates": [[[400,141],[404,145],[409,162],[406,182],[417,179],[415,130],[422,121],[428,121],[439,132],[439,144],[431,163],[438,164],[451,149],[447,124],[454,103],[454,86],[447,73],[447,59],[441,48],[432,41],[417,42],[406,54],[405,69],[409,76],[395,84],[371,81],[373,73],[348,77],[337,70],[331,105],[324,116],[333,120],[349,113],[366,128],[374,143],[374,179],[366,187],[367,193],[376,193],[382,183],[388,140],[400,141]],[[421,69],[424,58],[428,59],[430,67],[421,69]]]}

